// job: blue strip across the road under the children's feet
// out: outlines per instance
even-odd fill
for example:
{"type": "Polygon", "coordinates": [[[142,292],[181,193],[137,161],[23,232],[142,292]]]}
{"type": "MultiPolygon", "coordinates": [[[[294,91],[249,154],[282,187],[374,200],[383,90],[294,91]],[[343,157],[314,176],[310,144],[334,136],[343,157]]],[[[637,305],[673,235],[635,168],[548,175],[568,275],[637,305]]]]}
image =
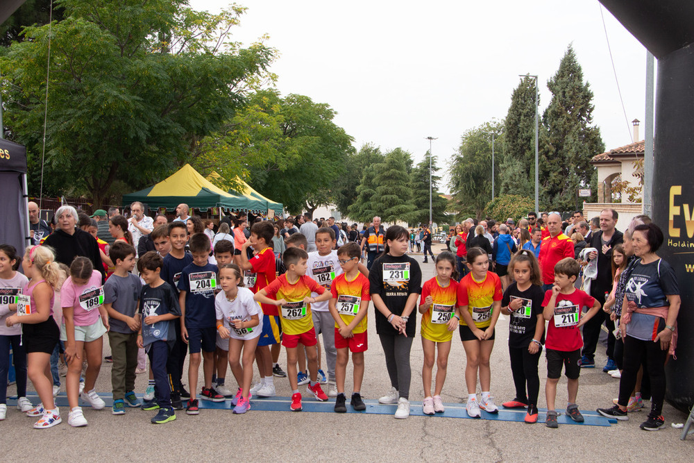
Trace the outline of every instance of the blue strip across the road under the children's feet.
{"type": "MultiPolygon", "coordinates": [[[[142,398],[142,394],[137,394],[138,398],[142,398]]],[[[37,396],[27,396],[31,403],[38,403],[39,398],[37,396]]],[[[113,405],[112,394],[99,394],[99,397],[103,399],[106,403],[106,407],[111,407],[113,405]]],[[[198,397],[199,398],[199,397],[198,397]]],[[[81,402],[81,406],[88,407],[89,405],[81,402]]],[[[289,397],[271,397],[271,398],[260,398],[254,397],[251,400],[251,410],[261,411],[261,412],[291,412],[289,410],[289,404],[291,403],[291,398],[289,397]]],[[[378,403],[375,399],[364,400],[366,404],[366,410],[363,412],[357,412],[347,403],[347,413],[361,413],[361,414],[387,414],[391,415],[395,413],[397,405],[384,405],[378,403]]],[[[65,393],[58,394],[56,397],[56,404],[58,407],[67,407],[67,396],[65,393]]],[[[17,398],[8,398],[8,407],[17,405],[17,398]]],[[[185,405],[185,401],[184,401],[185,405]]],[[[230,410],[233,408],[231,406],[231,401],[226,400],[223,402],[212,402],[212,401],[198,401],[198,406],[201,409],[208,410],[230,410]]],[[[331,399],[327,402],[319,402],[314,398],[304,397],[301,401],[301,406],[303,407],[303,412],[319,412],[319,413],[335,413],[335,400],[331,399]]],[[[489,421],[514,421],[516,423],[523,422],[525,420],[525,410],[523,409],[504,409],[501,408],[498,413],[487,413],[481,410],[481,418],[471,418],[468,416],[465,405],[461,403],[445,403],[446,412],[437,413],[432,415],[432,418],[459,418],[459,419],[486,419],[489,421]]],[[[546,409],[539,409],[538,423],[544,423],[546,417],[546,409]]],[[[296,412],[295,412],[296,413],[296,412]]],[[[589,412],[581,410],[585,421],[583,423],[576,423],[573,419],[570,419],[566,414],[560,414],[557,418],[557,423],[566,425],[576,425],[576,426],[610,426],[611,423],[616,423],[616,419],[608,419],[596,412],[589,412]]],[[[421,402],[411,402],[410,403],[410,415],[412,416],[428,416],[422,411],[421,402]]]]}

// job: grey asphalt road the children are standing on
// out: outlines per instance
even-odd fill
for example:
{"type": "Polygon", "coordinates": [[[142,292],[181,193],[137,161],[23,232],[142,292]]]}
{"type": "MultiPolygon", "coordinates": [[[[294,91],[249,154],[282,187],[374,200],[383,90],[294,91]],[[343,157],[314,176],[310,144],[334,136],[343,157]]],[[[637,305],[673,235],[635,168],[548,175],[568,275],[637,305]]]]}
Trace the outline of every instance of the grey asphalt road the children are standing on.
{"type": "MultiPolygon", "coordinates": [[[[442,245],[435,245],[434,252],[442,245]]],[[[421,255],[418,257],[421,260],[421,255]]],[[[434,275],[433,264],[423,264],[423,275],[434,275]]],[[[373,313],[373,312],[372,312],[373,313]]],[[[369,317],[371,333],[366,352],[366,373],[362,386],[365,398],[378,398],[389,389],[373,316],[369,317]]],[[[491,357],[492,395],[500,404],[514,396],[514,385],[507,351],[508,320],[501,317],[497,325],[496,346],[491,357]]],[[[108,355],[108,342],[104,355],[108,355]]],[[[421,365],[423,355],[419,335],[412,348],[412,401],[423,399],[421,365]]],[[[604,348],[598,346],[596,364],[604,365],[604,348]]],[[[286,361],[280,357],[280,364],[286,361]]],[[[325,366],[323,366],[325,369],[325,366]]],[[[448,362],[448,378],[443,388],[445,403],[464,403],[465,355],[459,337],[454,335],[448,362]]],[[[110,392],[110,364],[103,364],[97,392],[110,392]]],[[[202,369],[201,369],[202,372],[202,369]]],[[[540,363],[541,392],[539,403],[545,406],[545,364],[540,363]]],[[[185,376],[185,375],[184,375],[185,376]]],[[[137,376],[137,392],[146,387],[146,375],[137,376]]],[[[202,378],[201,378],[202,380],[202,378]]],[[[228,373],[227,384],[234,380],[228,373]]],[[[289,396],[289,381],[275,378],[279,396],[289,396]]],[[[351,369],[347,387],[350,392],[351,369]]],[[[31,388],[31,383],[30,383],[31,388]]],[[[581,410],[611,405],[618,380],[602,373],[602,368],[581,372],[578,404],[581,410]]],[[[300,387],[303,392],[305,389],[300,387]]],[[[557,408],[566,403],[566,380],[559,382],[557,408]]],[[[479,389],[478,391],[479,392],[479,389]]],[[[11,386],[9,394],[15,393],[11,386]]],[[[63,393],[64,394],[64,393],[63,393]]],[[[306,397],[307,394],[304,394],[306,397]]],[[[305,398],[305,403],[312,401],[305,398]]],[[[331,399],[332,401],[332,399],[331,399]]],[[[287,403],[287,410],[289,403],[287,403]]],[[[35,419],[14,407],[6,421],[0,422],[3,434],[3,461],[53,460],[81,461],[169,461],[197,460],[359,460],[359,461],[670,461],[691,462],[694,457],[694,435],[679,440],[679,431],[670,423],[682,423],[686,415],[665,405],[667,428],[645,432],[638,428],[648,412],[634,412],[631,419],[610,427],[560,426],[551,430],[543,423],[527,425],[446,417],[410,416],[396,420],[389,415],[335,414],[309,412],[265,412],[251,410],[233,415],[228,410],[201,410],[198,416],[178,412],[174,422],[153,425],[154,412],[128,409],[125,415],[112,416],[110,409],[95,411],[85,407],[89,421],[86,428],[67,424],[67,407],[61,412],[64,422],[49,430],[34,430],[35,419]]]]}

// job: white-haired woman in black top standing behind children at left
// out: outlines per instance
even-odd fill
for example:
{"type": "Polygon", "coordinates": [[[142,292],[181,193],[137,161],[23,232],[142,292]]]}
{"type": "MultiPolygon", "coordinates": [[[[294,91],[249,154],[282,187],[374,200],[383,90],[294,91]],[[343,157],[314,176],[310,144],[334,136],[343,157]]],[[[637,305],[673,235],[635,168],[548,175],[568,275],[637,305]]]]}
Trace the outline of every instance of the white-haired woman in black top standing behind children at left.
{"type": "Polygon", "coordinates": [[[102,283],[105,274],[99,244],[89,233],[77,228],[77,210],[71,205],[64,205],[56,211],[56,231],[51,233],[44,244],[56,250],[56,261],[62,262],[67,267],[78,255],[92,261],[94,269],[101,273],[102,283]]]}

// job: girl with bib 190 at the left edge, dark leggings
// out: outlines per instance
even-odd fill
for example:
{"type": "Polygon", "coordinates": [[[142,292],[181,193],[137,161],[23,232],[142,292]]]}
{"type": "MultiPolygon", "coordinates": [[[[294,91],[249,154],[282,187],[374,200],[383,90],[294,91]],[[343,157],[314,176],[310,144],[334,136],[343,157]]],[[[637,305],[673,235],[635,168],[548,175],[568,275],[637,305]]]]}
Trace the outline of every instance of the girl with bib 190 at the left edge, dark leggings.
{"type": "MultiPolygon", "coordinates": [[[[26,398],[26,351],[22,344],[22,327],[5,326],[5,319],[12,313],[10,304],[17,303],[17,294],[28,283],[28,278],[17,271],[17,250],[10,244],[0,244],[0,421],[7,414],[7,377],[10,371],[10,346],[17,382],[17,410],[28,412],[31,402],[26,398]]],[[[16,309],[15,309],[16,310],[16,309]]]]}

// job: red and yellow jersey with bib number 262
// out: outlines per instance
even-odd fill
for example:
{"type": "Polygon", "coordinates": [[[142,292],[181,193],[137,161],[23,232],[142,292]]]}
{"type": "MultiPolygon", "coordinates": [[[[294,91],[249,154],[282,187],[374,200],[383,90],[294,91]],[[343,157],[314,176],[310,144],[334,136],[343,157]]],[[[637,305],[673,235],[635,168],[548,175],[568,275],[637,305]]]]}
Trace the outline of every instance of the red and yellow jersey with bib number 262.
{"type": "MultiPolygon", "coordinates": [[[[271,252],[270,255],[274,256],[271,252]]],[[[313,328],[311,304],[304,303],[305,297],[311,297],[311,292],[323,294],[325,288],[316,283],[310,276],[300,276],[292,285],[287,280],[287,273],[278,276],[272,283],[264,287],[267,295],[276,301],[287,301],[282,307],[276,307],[282,317],[282,332],[287,335],[302,335],[313,328]]]]}

